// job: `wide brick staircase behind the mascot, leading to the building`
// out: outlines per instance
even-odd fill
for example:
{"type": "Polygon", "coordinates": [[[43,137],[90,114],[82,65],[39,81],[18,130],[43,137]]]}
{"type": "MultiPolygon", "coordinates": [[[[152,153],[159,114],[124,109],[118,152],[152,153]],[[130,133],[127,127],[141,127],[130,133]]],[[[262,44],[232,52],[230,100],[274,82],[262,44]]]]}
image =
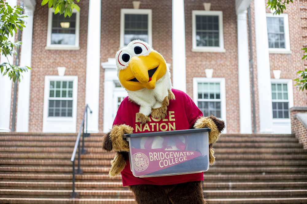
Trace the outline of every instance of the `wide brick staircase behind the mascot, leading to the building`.
{"type": "MultiPolygon", "coordinates": [[[[101,149],[102,134],[85,138],[72,191],[76,134],[0,133],[0,203],[134,204],[121,176],[110,179],[113,153],[101,149]]],[[[204,172],[208,204],[307,203],[307,154],[294,135],[222,135],[216,163],[204,172]]],[[[77,159],[76,159],[77,166],[77,159]]]]}

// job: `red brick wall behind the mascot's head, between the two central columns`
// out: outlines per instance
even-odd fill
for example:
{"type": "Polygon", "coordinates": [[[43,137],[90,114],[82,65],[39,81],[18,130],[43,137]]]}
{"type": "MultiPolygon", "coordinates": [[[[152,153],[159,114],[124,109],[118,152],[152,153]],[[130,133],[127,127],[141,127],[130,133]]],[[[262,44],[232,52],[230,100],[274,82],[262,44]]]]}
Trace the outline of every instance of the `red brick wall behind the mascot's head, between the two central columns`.
{"type": "MultiPolygon", "coordinates": [[[[119,50],[120,10],[133,9],[130,1],[102,1],[101,6],[101,62],[115,57],[119,50]]],[[[152,47],[162,54],[166,63],[172,64],[172,1],[141,1],[139,9],[152,9],[152,47]]],[[[170,68],[172,73],[172,67],[170,68]]],[[[103,130],[103,81],[100,69],[99,131],[103,130]]],[[[108,99],[106,99],[108,100],[108,99]]]]}

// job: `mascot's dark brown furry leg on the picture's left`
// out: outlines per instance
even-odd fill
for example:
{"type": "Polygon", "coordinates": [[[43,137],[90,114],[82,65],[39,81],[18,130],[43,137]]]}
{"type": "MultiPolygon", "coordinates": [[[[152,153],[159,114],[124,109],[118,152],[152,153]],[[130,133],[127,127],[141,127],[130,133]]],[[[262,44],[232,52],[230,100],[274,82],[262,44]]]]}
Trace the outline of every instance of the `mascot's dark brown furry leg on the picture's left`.
{"type": "Polygon", "coordinates": [[[129,189],[134,193],[137,204],[169,204],[162,186],[141,184],[129,186],[129,189]]]}

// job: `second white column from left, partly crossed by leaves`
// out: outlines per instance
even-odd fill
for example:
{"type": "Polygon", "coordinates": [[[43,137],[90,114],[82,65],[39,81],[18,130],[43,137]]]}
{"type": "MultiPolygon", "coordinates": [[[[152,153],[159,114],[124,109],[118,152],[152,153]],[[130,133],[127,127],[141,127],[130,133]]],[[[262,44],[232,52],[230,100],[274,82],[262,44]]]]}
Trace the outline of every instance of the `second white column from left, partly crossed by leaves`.
{"type": "MultiPolygon", "coordinates": [[[[20,55],[20,66],[31,67],[32,58],[32,31],[33,31],[33,12],[34,7],[24,6],[26,27],[22,31],[22,45],[20,55]]],[[[30,79],[31,70],[22,73],[18,86],[18,103],[17,103],[17,122],[16,132],[29,131],[29,103],[30,103],[30,79]]]]}

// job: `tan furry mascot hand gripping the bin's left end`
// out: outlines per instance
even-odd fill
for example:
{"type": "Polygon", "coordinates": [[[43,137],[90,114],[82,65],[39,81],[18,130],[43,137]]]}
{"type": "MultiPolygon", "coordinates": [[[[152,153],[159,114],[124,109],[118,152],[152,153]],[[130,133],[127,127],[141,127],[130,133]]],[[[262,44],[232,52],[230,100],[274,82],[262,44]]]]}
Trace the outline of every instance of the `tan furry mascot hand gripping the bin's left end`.
{"type": "Polygon", "coordinates": [[[122,135],[131,134],[133,128],[129,125],[114,125],[110,132],[110,141],[112,143],[112,148],[119,152],[129,152],[129,144],[126,140],[122,139],[122,135]]]}

